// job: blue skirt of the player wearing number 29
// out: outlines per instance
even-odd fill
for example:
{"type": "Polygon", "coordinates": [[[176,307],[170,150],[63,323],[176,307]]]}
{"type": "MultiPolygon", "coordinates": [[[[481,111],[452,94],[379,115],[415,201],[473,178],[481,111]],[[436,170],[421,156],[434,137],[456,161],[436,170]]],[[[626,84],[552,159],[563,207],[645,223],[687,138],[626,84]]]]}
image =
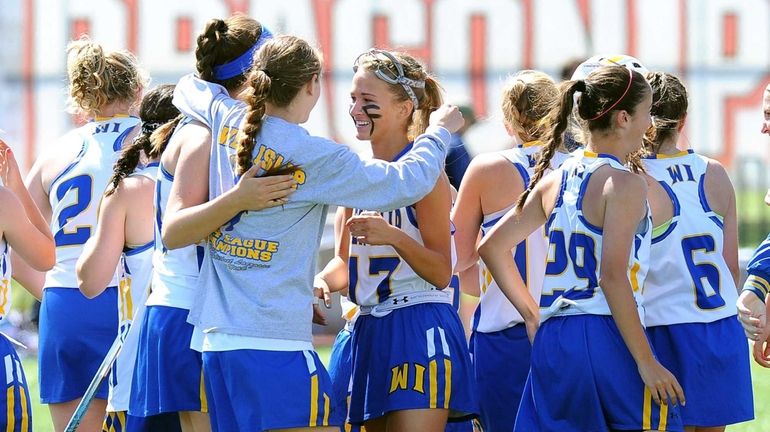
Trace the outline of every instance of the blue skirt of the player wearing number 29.
{"type": "Polygon", "coordinates": [[[611,316],[549,318],[532,345],[514,431],[610,430],[683,426],[679,407],[652,400],[611,316]]]}

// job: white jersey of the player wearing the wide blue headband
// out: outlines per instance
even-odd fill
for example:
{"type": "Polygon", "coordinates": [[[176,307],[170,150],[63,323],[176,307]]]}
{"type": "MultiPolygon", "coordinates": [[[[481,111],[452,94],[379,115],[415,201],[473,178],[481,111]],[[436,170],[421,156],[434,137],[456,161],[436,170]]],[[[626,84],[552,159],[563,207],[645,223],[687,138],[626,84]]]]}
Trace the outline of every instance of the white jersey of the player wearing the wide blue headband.
{"type": "MultiPolygon", "coordinates": [[[[179,122],[174,132],[190,121],[190,118],[185,118],[179,122]]],[[[174,139],[173,135],[171,139],[174,139]]],[[[203,246],[189,245],[169,250],[163,245],[161,229],[173,182],[174,176],[161,163],[155,180],[155,250],[152,256],[154,273],[147,306],[169,306],[189,310],[195,298],[195,287],[203,260],[203,246]]]]}

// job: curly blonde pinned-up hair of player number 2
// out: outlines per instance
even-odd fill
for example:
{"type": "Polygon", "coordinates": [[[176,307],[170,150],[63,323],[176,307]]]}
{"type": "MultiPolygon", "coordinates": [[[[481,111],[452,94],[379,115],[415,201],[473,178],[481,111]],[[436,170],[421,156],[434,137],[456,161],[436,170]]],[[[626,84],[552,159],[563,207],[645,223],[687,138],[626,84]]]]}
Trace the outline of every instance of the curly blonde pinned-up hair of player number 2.
{"type": "Polygon", "coordinates": [[[67,110],[86,115],[98,115],[113,102],[135,101],[149,81],[133,54],[105,52],[87,37],[67,45],[67,76],[67,110]]]}

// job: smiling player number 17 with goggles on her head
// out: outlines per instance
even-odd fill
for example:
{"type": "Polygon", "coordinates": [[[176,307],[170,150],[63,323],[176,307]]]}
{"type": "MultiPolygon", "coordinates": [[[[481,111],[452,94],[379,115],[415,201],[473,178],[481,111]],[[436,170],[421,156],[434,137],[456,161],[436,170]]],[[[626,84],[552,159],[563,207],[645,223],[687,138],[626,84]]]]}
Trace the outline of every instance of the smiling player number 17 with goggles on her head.
{"type": "MultiPolygon", "coordinates": [[[[354,70],[356,137],[371,142],[375,159],[396,161],[441,104],[440,86],[402,53],[370,50],[354,70]]],[[[368,431],[443,431],[450,411],[456,418],[476,411],[465,333],[452,296],[441,291],[453,268],[450,188],[442,176],[409,206],[340,210],[347,224],[337,235],[335,261],[346,265],[336,271],[349,273],[348,297],[361,306],[352,335],[349,421],[368,431]]]]}

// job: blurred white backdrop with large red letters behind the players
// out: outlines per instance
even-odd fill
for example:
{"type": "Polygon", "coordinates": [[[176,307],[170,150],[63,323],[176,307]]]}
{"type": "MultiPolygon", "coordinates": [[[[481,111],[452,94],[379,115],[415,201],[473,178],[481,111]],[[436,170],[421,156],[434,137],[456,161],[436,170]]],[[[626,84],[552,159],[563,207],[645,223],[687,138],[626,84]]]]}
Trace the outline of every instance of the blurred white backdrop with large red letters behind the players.
{"type": "MultiPolygon", "coordinates": [[[[510,145],[499,108],[507,75],[539,69],[559,80],[562,69],[571,74],[571,62],[594,54],[637,57],[686,83],[690,114],[680,147],[719,160],[731,173],[747,248],[742,256],[770,231],[763,204],[770,138],[760,134],[770,82],[770,0],[2,0],[0,129],[22,169],[74,126],[64,111],[69,40],[88,34],[107,48],[129,49],[149,71],[151,86],[174,83],[194,71],[195,40],[206,21],[236,12],[321,49],[323,95],[306,126],[362,153],[368,143],[355,140],[348,93],[353,61],[369,47],[417,56],[448,101],[470,108],[466,113],[477,119],[464,136],[471,155],[510,145]]],[[[332,238],[327,230],[319,263],[332,238]]],[[[26,328],[23,313],[32,303],[20,298],[6,326],[26,328]]],[[[332,320],[318,333],[338,329],[332,320]]],[[[34,335],[29,327],[32,348],[34,335]]],[[[36,365],[26,366],[28,374],[36,372],[36,365]]]]}

